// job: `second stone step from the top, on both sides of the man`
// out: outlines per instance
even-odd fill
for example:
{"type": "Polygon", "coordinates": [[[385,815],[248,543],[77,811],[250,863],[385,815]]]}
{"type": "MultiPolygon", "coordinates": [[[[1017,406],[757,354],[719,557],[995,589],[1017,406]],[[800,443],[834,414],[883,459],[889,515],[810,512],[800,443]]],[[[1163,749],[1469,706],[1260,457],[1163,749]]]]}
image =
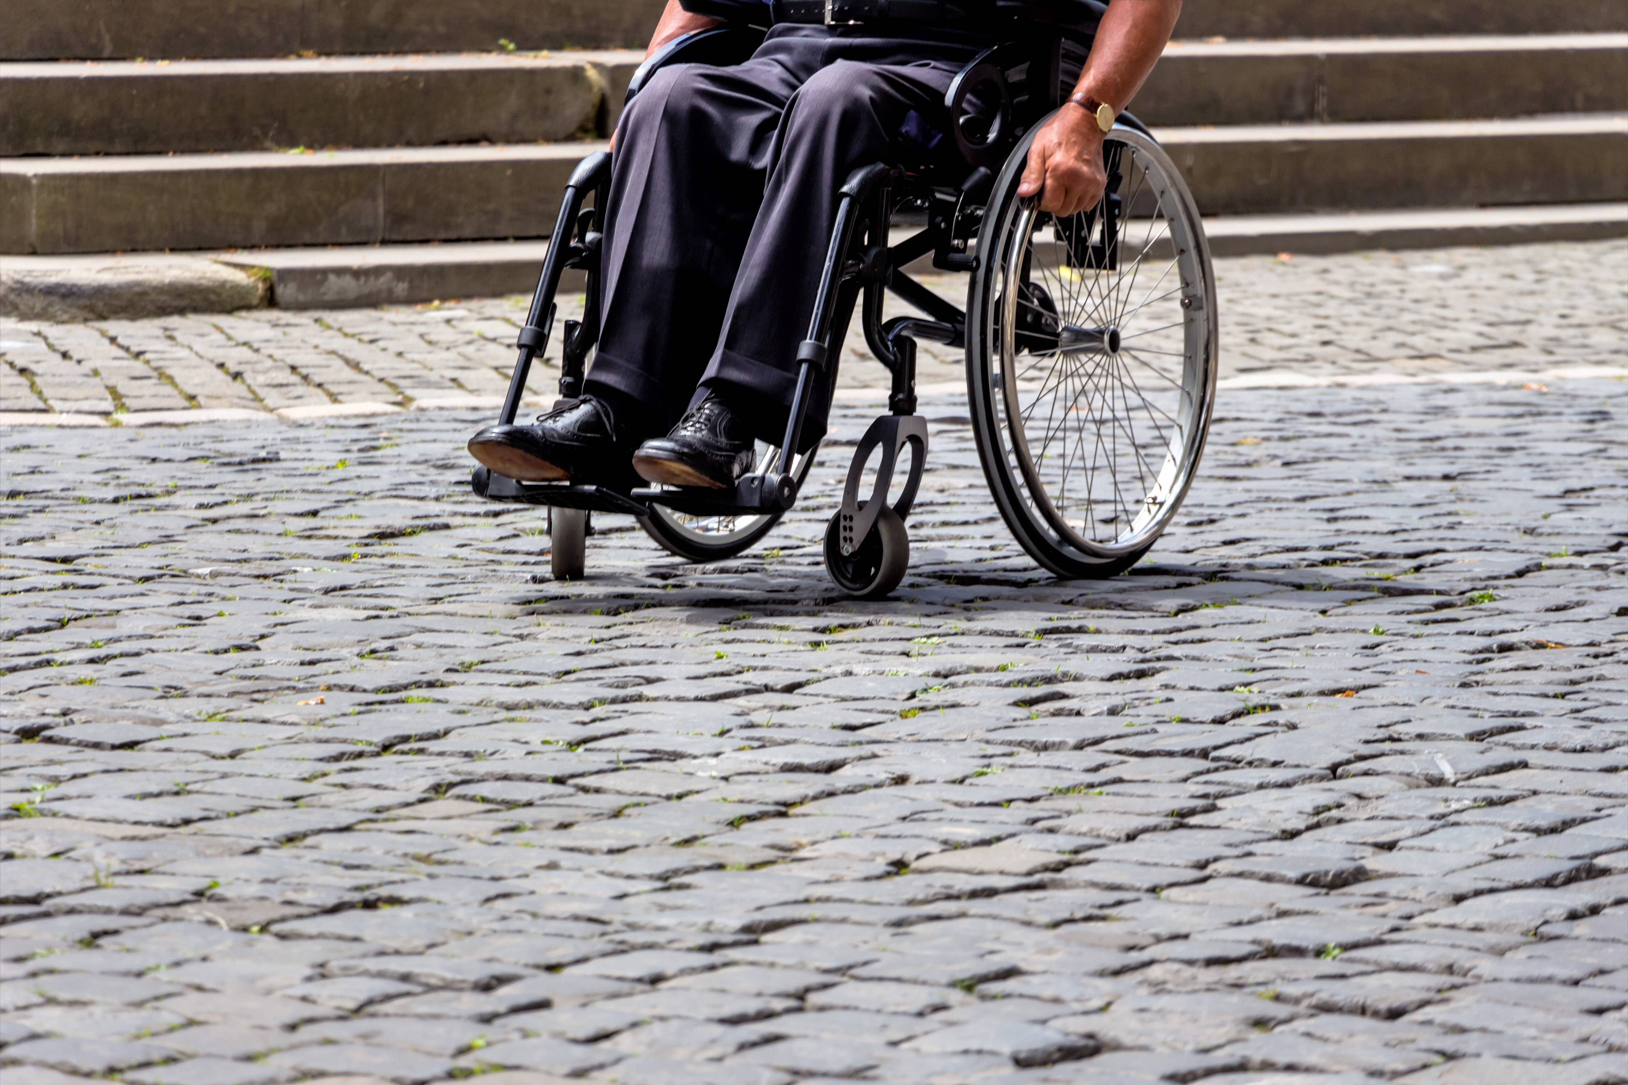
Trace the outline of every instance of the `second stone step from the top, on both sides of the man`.
{"type": "MultiPolygon", "coordinates": [[[[529,143],[609,135],[633,50],[13,63],[0,156],[529,143]]],[[[1628,109],[1628,34],[1174,42],[1156,125],[1628,109]]]]}

